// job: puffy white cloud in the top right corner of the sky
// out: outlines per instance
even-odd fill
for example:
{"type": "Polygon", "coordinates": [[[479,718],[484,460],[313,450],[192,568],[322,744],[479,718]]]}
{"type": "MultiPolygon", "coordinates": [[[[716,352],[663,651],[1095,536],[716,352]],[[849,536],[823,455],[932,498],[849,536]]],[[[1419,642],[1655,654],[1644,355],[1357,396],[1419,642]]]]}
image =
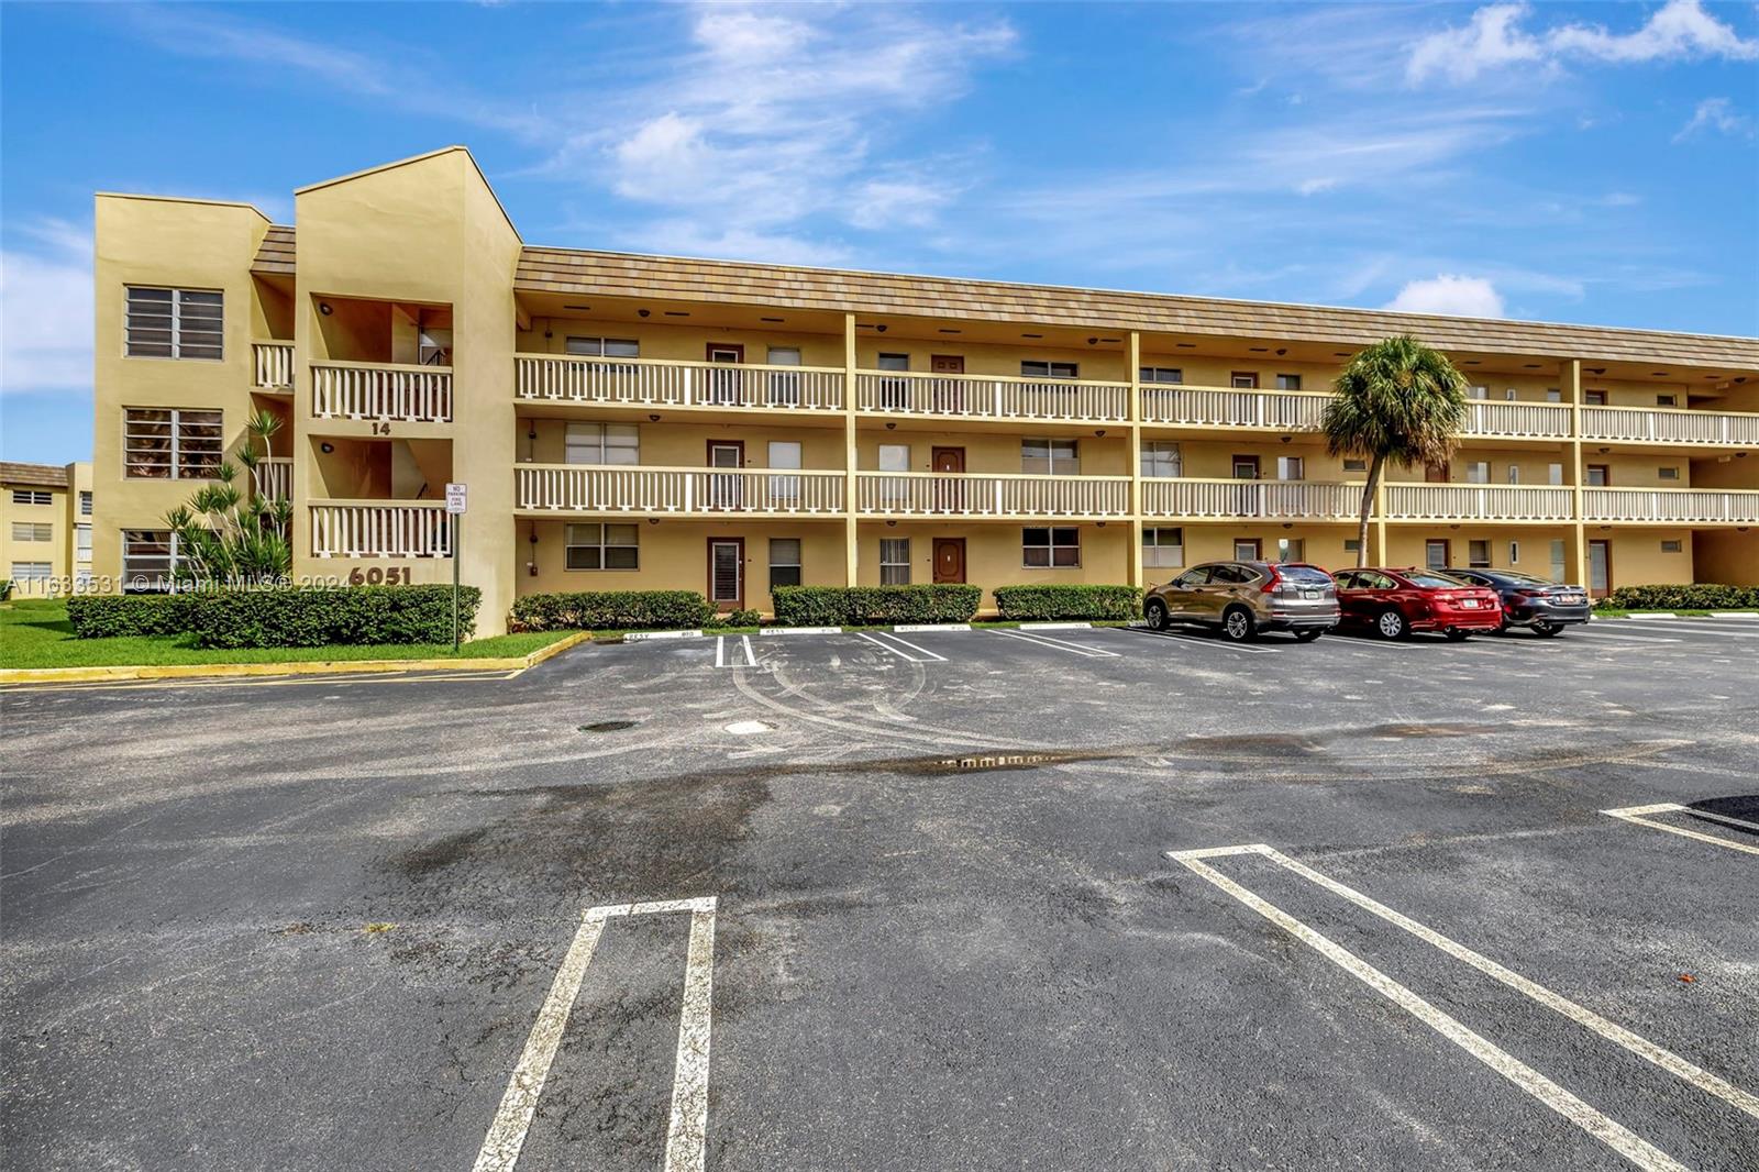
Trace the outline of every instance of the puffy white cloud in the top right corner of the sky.
{"type": "Polygon", "coordinates": [[[1729,25],[1704,11],[1701,0],[1668,0],[1650,19],[1629,33],[1602,25],[1558,25],[1529,32],[1527,4],[1490,4],[1462,28],[1430,33],[1411,48],[1405,79],[1430,77],[1471,81],[1483,72],[1527,65],[1555,70],[1571,58],[1638,63],[1720,56],[1738,62],[1759,58],[1759,40],[1743,40],[1729,25]]]}

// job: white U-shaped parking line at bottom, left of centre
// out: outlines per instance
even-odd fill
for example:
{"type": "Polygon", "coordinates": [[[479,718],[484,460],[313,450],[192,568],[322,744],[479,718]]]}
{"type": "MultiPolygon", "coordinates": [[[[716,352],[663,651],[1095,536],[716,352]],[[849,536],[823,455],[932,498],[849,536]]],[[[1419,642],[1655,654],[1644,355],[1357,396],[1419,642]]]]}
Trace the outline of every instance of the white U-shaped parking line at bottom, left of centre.
{"type": "Polygon", "coordinates": [[[556,970],[538,1021],[531,1026],[526,1049],[514,1066],[514,1077],[501,1095],[501,1107],[477,1153],[473,1172],[512,1172],[519,1149],[526,1144],[531,1116],[544,1093],[568,1014],[580,996],[580,982],[593,963],[593,949],[605,920],[617,915],[690,912],[690,952],[684,959],[684,1014],[677,1026],[677,1061],[672,1077],[672,1119],[667,1128],[663,1172],[702,1172],[709,1124],[709,1012],[714,973],[714,896],[698,899],[663,899],[658,903],[616,903],[588,908],[568,954],[556,970]]]}

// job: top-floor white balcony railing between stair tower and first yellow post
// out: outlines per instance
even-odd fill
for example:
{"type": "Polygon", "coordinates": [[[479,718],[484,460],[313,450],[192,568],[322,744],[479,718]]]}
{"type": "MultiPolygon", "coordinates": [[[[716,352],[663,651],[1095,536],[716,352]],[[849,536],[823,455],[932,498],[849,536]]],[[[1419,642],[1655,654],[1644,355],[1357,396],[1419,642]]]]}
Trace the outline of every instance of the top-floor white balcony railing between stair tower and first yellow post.
{"type": "Polygon", "coordinates": [[[823,366],[521,354],[514,377],[514,392],[535,403],[843,410],[843,371],[823,366]]]}

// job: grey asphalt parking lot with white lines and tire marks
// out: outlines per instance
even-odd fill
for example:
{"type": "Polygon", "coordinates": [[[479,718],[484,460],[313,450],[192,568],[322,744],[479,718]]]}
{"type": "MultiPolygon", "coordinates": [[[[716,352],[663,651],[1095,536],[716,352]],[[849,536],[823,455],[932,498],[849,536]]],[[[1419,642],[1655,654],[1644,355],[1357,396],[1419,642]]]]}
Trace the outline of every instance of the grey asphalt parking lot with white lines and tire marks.
{"type": "Polygon", "coordinates": [[[5,695],[32,1168],[1759,1167],[1759,619],[5,695]]]}

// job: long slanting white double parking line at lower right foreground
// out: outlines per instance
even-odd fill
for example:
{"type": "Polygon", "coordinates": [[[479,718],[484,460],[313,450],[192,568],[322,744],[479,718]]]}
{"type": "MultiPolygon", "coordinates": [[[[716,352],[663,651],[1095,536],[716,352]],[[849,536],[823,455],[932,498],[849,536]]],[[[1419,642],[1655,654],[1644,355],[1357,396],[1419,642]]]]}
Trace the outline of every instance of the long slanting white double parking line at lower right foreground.
{"type": "Polygon", "coordinates": [[[1648,1038],[1643,1038],[1632,1033],[1631,1029],[1625,1029],[1624,1026],[1608,1021],[1606,1017],[1595,1014],[1594,1010],[1578,1005],[1576,1001],[1571,1001],[1569,998],[1564,998],[1553,993],[1551,989],[1546,989],[1544,985],[1529,980],[1527,977],[1522,977],[1520,973],[1509,968],[1504,968],[1502,964],[1492,961],[1481,952],[1474,952],[1472,949],[1467,949],[1465,945],[1448,936],[1442,936],[1435,929],[1420,924],[1418,920],[1412,920],[1411,917],[1402,915],[1393,908],[1388,908],[1386,905],[1361,894],[1353,887],[1347,887],[1326,875],[1321,875],[1319,871],[1284,855],[1282,852],[1272,846],[1266,846],[1265,843],[1166,852],[1168,859],[1173,859],[1175,862],[1186,866],[1187,869],[1191,869],[1214,887],[1221,889],[1233,899],[1258,912],[1272,924],[1282,927],[1291,936],[1295,936],[1296,940],[1309,945],[1310,949],[1325,956],[1328,961],[1347,971],[1351,977],[1356,977],[1370,989],[1374,989],[1386,1000],[1393,1001],[1395,1005],[1409,1012],[1412,1017],[1416,1017],[1428,1028],[1435,1029],[1449,1042],[1462,1047],[1476,1059],[1479,1059],[1481,1063],[1500,1073],[1504,1079],[1522,1088],[1523,1091],[1537,1098],[1541,1103],[1558,1112],[1560,1116],[1564,1116],[1566,1119],[1580,1126],[1583,1132],[1595,1137],[1597,1140],[1601,1140],[1602,1144],[1622,1154],[1625,1160],[1638,1165],[1639,1168],[1680,1170],[1685,1168],[1685,1165],[1682,1165],[1678,1160],[1666,1154],[1643,1137],[1636,1135],[1618,1121],[1611,1119],[1595,1107],[1588,1105],[1581,1098],[1576,1098],[1551,1079],[1544,1077],[1532,1066],[1516,1059],[1507,1051],[1497,1047],[1485,1036],[1460,1024],[1456,1019],[1435,1008],[1421,996],[1418,996],[1405,985],[1400,985],[1398,982],[1395,982],[1386,973],[1374,968],[1356,954],[1337,945],[1335,941],[1314,931],[1302,920],[1296,920],[1293,915],[1268,903],[1261,896],[1247,890],[1245,887],[1228,878],[1226,875],[1223,875],[1207,862],[1210,859],[1223,859],[1231,855],[1254,855],[1268,859],[1270,862],[1275,862],[1286,871],[1291,871],[1293,875],[1298,875],[1300,878],[1335,896],[1340,896],[1342,899],[1353,903],[1363,912],[1369,912],[1386,920],[1388,924],[1416,936],[1418,940],[1446,952],[1456,961],[1463,961],[1479,973],[1500,982],[1509,989],[1514,989],[1516,993],[1527,996],[1529,1000],[1550,1010],[1555,1010],[1557,1014],[1562,1014],[1569,1021],[1587,1029],[1592,1029],[1608,1042],[1624,1047],[1631,1054],[1636,1054],[1638,1058],[1682,1079],[1683,1082],[1697,1088],[1699,1091],[1713,1095],[1722,1102],[1729,1103],[1731,1107],[1734,1107],[1736,1110],[1741,1110],[1752,1116],[1754,1119],[1759,1119],[1759,1095],[1752,1095],[1750,1091],[1745,1091],[1727,1082],[1726,1079],[1689,1063],[1678,1054],[1660,1045],[1655,1045],[1648,1038]]]}

